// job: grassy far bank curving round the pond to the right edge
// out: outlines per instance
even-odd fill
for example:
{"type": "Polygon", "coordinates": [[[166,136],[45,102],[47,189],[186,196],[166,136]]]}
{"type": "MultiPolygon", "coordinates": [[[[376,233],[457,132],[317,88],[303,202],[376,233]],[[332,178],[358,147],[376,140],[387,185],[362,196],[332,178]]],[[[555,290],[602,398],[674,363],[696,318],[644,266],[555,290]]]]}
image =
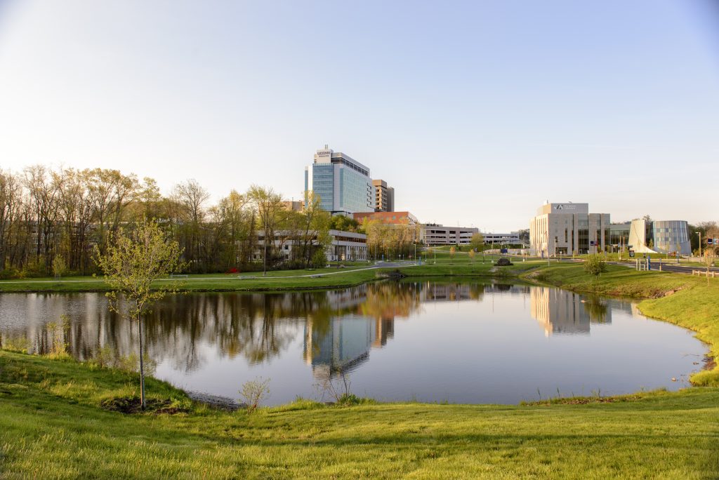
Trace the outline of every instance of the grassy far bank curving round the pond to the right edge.
{"type": "MultiPolygon", "coordinates": [[[[496,270],[493,264],[467,263],[455,261],[454,264],[438,263],[423,265],[398,265],[392,267],[367,267],[360,269],[320,269],[311,274],[282,275],[277,272],[270,277],[252,277],[240,280],[237,277],[204,276],[186,279],[196,282],[193,287],[178,290],[178,293],[190,292],[238,292],[238,293],[283,293],[311,292],[357,287],[371,282],[387,280],[383,272],[398,270],[401,280],[505,280],[513,283],[558,287],[572,292],[590,295],[638,300],[638,309],[642,315],[655,320],[667,321],[693,331],[695,337],[707,345],[707,364],[713,369],[695,372],[690,377],[692,386],[719,387],[719,315],[713,312],[719,305],[719,281],[710,282],[690,277],[686,274],[670,272],[636,272],[620,266],[608,266],[608,272],[592,277],[583,272],[582,264],[575,262],[557,262],[546,265],[544,262],[516,262],[511,267],[496,270]],[[344,277],[345,275],[350,278],[344,277]],[[209,287],[206,282],[214,282],[209,287]],[[227,285],[232,282],[232,285],[227,285]],[[237,282],[237,284],[235,284],[237,282]],[[243,282],[247,282],[242,285],[243,282]],[[252,283],[249,283],[252,282],[252,283]],[[249,285],[248,285],[249,284],[249,285]],[[275,285],[273,285],[275,284],[275,285]]],[[[294,273],[293,271],[285,271],[294,273]]],[[[30,282],[30,280],[28,280],[30,282]]],[[[45,282],[45,281],[43,281],[45,282]]],[[[103,280],[67,280],[66,282],[103,284],[103,280]]],[[[81,293],[106,292],[106,287],[65,288],[68,283],[47,282],[52,289],[6,290],[6,285],[18,285],[21,282],[0,282],[0,295],[3,293],[81,293]],[[5,287],[5,288],[4,288],[5,287]]],[[[84,285],[83,285],[84,286],[84,285]]]]}

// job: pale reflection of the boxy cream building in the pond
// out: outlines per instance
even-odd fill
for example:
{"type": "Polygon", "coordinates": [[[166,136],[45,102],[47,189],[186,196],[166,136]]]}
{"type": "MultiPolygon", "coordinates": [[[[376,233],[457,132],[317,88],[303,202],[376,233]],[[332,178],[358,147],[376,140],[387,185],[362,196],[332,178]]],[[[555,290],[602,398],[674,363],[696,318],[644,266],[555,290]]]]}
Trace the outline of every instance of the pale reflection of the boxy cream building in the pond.
{"type": "Polygon", "coordinates": [[[599,299],[583,298],[558,288],[533,287],[530,290],[531,315],[544,334],[586,333],[590,323],[611,323],[611,309],[599,299]]]}

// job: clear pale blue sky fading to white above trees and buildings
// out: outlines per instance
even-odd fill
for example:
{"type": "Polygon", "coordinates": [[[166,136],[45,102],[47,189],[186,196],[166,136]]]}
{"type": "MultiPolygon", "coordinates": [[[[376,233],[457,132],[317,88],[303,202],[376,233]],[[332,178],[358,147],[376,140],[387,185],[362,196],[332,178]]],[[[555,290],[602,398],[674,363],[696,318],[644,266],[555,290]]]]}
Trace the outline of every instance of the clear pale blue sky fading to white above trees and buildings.
{"type": "Polygon", "coordinates": [[[0,168],[303,195],[329,144],[420,221],[718,220],[719,1],[0,0],[0,168]]]}

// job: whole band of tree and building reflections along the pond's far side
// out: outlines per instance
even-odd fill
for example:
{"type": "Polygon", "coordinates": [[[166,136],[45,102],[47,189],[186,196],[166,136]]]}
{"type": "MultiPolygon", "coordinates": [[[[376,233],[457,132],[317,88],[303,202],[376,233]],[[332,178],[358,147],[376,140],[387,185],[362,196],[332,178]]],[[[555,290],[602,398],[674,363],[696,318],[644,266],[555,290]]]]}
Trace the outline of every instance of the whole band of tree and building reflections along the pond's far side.
{"type": "MultiPolygon", "coordinates": [[[[557,288],[384,282],[323,292],[174,295],[148,315],[147,348],[183,371],[203,365],[200,343],[229,359],[244,356],[260,364],[285,351],[302,330],[306,363],[319,376],[336,375],[357,368],[370,349],[385,346],[394,336],[395,318],[410,317],[423,303],[482,300],[485,292],[528,294],[531,316],[546,336],[589,334],[592,323],[612,320],[606,300],[557,288]]],[[[110,313],[105,297],[96,293],[0,295],[0,345],[47,353],[55,333],[45,326],[61,315],[71,320],[65,342],[78,359],[92,359],[107,346],[117,356],[135,349],[137,326],[110,313]]]]}

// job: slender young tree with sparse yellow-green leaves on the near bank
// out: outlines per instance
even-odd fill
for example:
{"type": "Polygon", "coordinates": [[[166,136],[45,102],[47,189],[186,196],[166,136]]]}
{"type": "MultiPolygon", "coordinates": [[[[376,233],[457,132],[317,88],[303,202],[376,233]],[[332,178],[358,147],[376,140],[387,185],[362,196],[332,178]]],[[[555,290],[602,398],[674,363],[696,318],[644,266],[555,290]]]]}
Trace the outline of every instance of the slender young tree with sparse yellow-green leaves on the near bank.
{"type": "Polygon", "coordinates": [[[138,323],[140,401],[145,402],[145,365],[142,349],[142,317],[152,304],[165,297],[176,285],[152,287],[152,282],[183,268],[180,246],[168,241],[155,221],[143,221],[131,234],[118,232],[114,244],[104,254],[96,247],[99,267],[111,287],[106,295],[111,311],[138,323]]]}

